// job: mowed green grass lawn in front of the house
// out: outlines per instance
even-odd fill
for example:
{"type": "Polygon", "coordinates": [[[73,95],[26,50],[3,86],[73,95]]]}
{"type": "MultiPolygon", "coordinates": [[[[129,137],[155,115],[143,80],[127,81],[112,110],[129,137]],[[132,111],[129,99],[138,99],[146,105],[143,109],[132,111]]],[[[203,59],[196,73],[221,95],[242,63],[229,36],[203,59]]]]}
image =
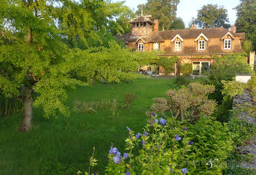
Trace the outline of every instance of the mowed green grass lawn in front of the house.
{"type": "Polygon", "coordinates": [[[88,170],[93,147],[98,165],[91,172],[104,174],[112,143],[123,155],[126,126],[142,133],[152,99],[166,97],[166,90],[176,88],[174,81],[141,79],[69,91],[69,106],[75,100],[116,99],[122,103],[125,94],[135,95],[131,109],[119,109],[114,118],[110,109],[49,119],[43,117],[42,109],[35,109],[32,131],[22,134],[17,132],[22,114],[0,118],[0,174],[76,174],[88,170]]]}

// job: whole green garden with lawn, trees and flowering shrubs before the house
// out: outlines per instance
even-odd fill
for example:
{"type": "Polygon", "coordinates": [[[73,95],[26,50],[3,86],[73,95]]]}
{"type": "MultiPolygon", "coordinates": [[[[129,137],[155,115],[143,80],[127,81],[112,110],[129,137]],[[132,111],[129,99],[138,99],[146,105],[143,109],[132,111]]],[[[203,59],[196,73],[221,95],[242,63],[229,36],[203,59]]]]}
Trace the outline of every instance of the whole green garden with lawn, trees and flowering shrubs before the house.
{"type": "Polygon", "coordinates": [[[239,149],[255,145],[247,53],[212,55],[209,73],[187,79],[190,63],[117,40],[135,15],[123,1],[6,0],[0,11],[0,174],[255,173],[239,149]],[[138,74],[151,63],[184,74],[138,74]]]}

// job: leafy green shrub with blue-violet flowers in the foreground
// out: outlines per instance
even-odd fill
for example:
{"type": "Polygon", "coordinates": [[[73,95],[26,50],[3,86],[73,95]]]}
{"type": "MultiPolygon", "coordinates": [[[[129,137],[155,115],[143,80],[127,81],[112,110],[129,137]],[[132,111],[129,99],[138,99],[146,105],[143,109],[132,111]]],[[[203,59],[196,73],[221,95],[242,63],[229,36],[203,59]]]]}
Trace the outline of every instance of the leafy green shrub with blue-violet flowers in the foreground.
{"type": "MultiPolygon", "coordinates": [[[[153,120],[155,118],[157,116],[152,117],[153,120]]],[[[189,174],[221,174],[226,167],[228,154],[234,149],[228,126],[208,117],[200,118],[195,125],[167,118],[166,124],[147,124],[144,131],[149,133],[148,136],[143,135],[138,139],[133,131],[129,131],[129,137],[125,140],[128,159],[121,158],[119,163],[115,163],[115,155],[109,154],[106,172],[182,174],[181,168],[187,168],[189,174]],[[175,139],[176,135],[181,141],[175,139]],[[189,145],[191,141],[193,143],[189,145]],[[139,155],[134,155],[137,149],[139,155]]]]}

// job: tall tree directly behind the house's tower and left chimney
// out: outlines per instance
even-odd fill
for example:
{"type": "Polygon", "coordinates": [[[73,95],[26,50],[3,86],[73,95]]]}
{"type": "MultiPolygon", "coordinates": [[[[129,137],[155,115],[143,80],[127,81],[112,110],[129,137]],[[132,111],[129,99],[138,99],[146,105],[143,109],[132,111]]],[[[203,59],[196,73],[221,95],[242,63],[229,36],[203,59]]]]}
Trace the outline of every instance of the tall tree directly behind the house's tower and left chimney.
{"type": "Polygon", "coordinates": [[[160,29],[169,30],[172,22],[176,20],[176,11],[179,0],[148,0],[146,5],[138,5],[137,15],[141,15],[141,7],[143,14],[150,14],[152,18],[159,20],[160,29]]]}

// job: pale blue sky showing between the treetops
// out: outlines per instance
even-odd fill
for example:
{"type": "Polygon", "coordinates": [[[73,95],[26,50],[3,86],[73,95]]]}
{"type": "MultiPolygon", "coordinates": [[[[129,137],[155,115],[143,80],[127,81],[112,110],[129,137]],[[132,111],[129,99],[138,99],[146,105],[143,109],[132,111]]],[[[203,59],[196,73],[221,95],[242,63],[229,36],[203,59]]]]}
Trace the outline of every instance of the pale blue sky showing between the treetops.
{"type": "MultiPolygon", "coordinates": [[[[146,3],[146,0],[126,0],[125,5],[137,11],[137,5],[146,3]]],[[[181,17],[187,27],[192,17],[197,16],[197,11],[207,4],[217,4],[224,6],[228,11],[228,19],[230,24],[236,22],[236,10],[234,7],[240,4],[240,0],[179,0],[177,5],[177,17],[181,17]]]]}

